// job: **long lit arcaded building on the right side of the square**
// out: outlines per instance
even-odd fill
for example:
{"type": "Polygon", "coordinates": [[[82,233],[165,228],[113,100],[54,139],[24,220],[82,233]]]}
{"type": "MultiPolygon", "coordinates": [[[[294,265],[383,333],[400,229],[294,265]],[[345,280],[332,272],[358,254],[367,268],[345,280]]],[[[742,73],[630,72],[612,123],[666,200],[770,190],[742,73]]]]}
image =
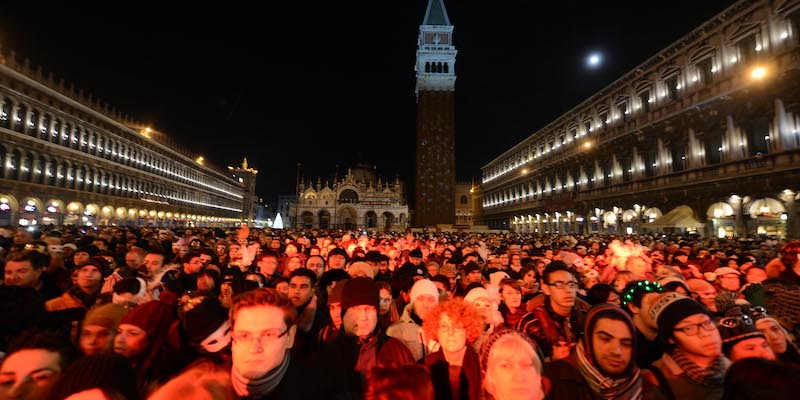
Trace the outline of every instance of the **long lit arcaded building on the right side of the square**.
{"type": "Polygon", "coordinates": [[[720,11],[483,166],[476,223],[799,237],[800,2],[720,11]]]}

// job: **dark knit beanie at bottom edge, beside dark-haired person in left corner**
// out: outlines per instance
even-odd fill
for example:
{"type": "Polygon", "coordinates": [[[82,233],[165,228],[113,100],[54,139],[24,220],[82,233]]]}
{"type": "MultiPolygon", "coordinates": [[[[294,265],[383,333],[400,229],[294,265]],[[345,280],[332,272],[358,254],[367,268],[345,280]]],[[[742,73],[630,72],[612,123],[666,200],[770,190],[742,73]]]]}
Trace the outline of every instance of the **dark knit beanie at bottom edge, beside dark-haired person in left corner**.
{"type": "Polygon", "coordinates": [[[51,399],[66,399],[90,389],[119,393],[126,399],[138,399],[136,372],[124,357],[95,354],[72,363],[53,386],[51,399]]]}

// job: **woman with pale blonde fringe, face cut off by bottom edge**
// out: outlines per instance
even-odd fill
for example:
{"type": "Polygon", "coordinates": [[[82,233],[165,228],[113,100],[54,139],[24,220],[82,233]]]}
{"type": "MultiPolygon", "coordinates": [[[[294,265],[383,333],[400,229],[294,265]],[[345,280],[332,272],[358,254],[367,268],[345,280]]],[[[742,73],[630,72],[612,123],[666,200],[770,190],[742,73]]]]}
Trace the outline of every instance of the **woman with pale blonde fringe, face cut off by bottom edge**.
{"type": "Polygon", "coordinates": [[[540,351],[527,335],[514,329],[498,330],[481,346],[479,357],[486,398],[544,398],[540,351]]]}

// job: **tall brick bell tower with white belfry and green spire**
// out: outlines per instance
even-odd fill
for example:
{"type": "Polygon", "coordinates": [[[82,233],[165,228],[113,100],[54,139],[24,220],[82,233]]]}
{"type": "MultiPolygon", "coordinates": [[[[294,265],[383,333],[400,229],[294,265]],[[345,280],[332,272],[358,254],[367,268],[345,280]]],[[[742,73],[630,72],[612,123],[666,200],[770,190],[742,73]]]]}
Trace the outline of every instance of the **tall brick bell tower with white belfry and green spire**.
{"type": "Polygon", "coordinates": [[[414,226],[453,224],[456,181],[453,25],[443,0],[428,0],[417,39],[414,226]]]}

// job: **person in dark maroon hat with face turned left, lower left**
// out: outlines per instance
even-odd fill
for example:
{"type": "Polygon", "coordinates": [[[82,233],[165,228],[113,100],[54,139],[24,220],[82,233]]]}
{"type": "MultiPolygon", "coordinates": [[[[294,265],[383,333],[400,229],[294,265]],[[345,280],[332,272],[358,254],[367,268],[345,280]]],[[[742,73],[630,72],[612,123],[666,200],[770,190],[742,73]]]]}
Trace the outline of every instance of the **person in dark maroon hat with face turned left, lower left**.
{"type": "Polygon", "coordinates": [[[167,378],[164,375],[170,357],[167,334],[175,320],[175,310],[162,300],[149,301],[128,311],[120,319],[114,337],[114,353],[131,363],[145,392],[167,378]]]}

